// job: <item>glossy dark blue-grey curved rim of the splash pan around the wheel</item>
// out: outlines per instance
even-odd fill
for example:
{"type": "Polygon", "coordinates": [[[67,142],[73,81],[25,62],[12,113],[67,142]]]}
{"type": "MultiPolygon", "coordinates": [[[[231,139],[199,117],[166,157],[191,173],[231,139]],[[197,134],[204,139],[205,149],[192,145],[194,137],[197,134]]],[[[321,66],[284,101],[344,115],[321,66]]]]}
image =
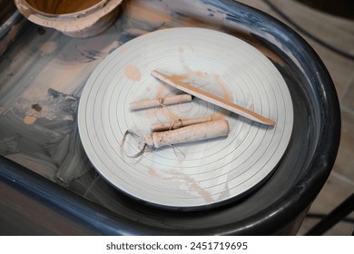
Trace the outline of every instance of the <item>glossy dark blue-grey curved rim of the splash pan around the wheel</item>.
{"type": "MultiPolygon", "coordinates": [[[[16,190],[27,193],[32,199],[41,200],[53,210],[60,210],[66,216],[74,218],[74,223],[78,227],[90,229],[92,233],[97,234],[270,235],[281,233],[291,223],[296,222],[296,217],[299,217],[304,211],[306,212],[312,200],[316,198],[323,184],[327,181],[339,148],[339,101],[329,73],[318,54],[313,51],[299,34],[296,34],[288,26],[281,24],[270,15],[231,0],[203,2],[218,6],[220,11],[228,14],[229,21],[238,24],[238,27],[243,32],[257,37],[263,44],[267,44],[269,48],[279,49],[277,44],[271,44],[266,39],[262,39],[261,33],[272,35],[280,41],[288,41],[288,47],[286,49],[280,48],[280,54],[288,60],[289,58],[295,59],[297,61],[295,65],[301,69],[298,71],[301,71],[303,75],[306,74],[307,81],[313,82],[309,90],[318,94],[316,97],[318,102],[313,109],[316,111],[315,119],[308,120],[311,121],[313,129],[318,131],[315,137],[316,147],[312,148],[313,150],[311,151],[312,160],[306,161],[306,165],[304,165],[306,171],[300,178],[295,180],[295,184],[290,188],[291,191],[288,191],[281,199],[275,200],[261,213],[252,214],[248,218],[235,219],[230,223],[219,226],[203,225],[201,229],[191,229],[184,224],[184,227],[169,227],[169,224],[166,224],[168,223],[167,220],[164,220],[163,225],[161,223],[152,223],[150,225],[147,222],[138,222],[137,220],[123,217],[94,204],[92,201],[85,200],[70,190],[66,190],[64,187],[26,170],[5,157],[0,157],[0,179],[13,186],[16,190]],[[291,53],[286,51],[289,48],[293,50],[291,53]],[[53,199],[52,194],[56,195],[56,199],[53,199]]],[[[299,119],[295,118],[295,121],[297,120],[299,119]]],[[[236,205],[241,205],[241,203],[236,205]]],[[[150,210],[146,206],[139,204],[131,204],[131,206],[144,214],[156,212],[156,210],[150,210]]],[[[230,215],[231,211],[231,206],[228,206],[227,210],[212,210],[212,213],[223,212],[226,215],[230,215]]],[[[159,210],[159,212],[161,212],[159,213],[159,218],[169,215],[171,220],[173,218],[179,222],[187,220],[180,217],[181,212],[170,213],[162,210],[159,210]]],[[[193,212],[183,214],[192,217],[196,216],[193,212]]],[[[202,215],[204,216],[204,221],[208,220],[209,215],[210,213],[202,215]]]]}

